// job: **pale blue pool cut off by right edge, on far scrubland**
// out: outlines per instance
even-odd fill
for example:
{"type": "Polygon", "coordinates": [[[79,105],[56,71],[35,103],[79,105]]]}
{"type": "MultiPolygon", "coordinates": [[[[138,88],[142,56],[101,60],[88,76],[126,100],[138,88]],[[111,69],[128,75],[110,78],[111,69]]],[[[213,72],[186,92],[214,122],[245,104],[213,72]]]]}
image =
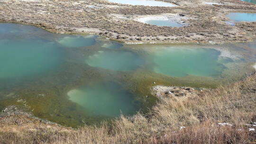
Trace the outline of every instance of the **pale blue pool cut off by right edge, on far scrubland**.
{"type": "Polygon", "coordinates": [[[242,12],[232,12],[227,15],[227,17],[233,21],[247,21],[254,22],[256,21],[256,13],[242,13],[242,12]]]}

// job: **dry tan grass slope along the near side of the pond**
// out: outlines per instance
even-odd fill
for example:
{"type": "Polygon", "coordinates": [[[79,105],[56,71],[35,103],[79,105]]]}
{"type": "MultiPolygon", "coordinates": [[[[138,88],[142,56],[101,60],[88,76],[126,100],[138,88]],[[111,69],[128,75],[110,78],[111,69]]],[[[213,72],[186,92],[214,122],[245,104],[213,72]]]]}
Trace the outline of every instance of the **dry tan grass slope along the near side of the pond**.
{"type": "Polygon", "coordinates": [[[249,144],[256,122],[256,75],[191,97],[164,97],[148,115],[79,129],[22,116],[0,119],[0,144],[249,144]],[[233,126],[218,126],[228,122],[233,126]],[[179,130],[180,126],[186,128],[179,130]],[[241,130],[238,130],[241,129],[241,130]],[[175,132],[174,132],[175,131],[175,132]]]}

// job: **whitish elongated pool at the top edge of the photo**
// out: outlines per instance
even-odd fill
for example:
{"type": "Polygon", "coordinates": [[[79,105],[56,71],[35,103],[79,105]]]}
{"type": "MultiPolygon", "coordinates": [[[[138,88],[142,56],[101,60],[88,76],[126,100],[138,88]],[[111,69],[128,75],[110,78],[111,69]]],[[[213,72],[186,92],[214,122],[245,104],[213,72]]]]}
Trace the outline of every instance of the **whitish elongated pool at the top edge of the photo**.
{"type": "Polygon", "coordinates": [[[129,5],[141,5],[141,6],[157,6],[157,7],[174,7],[176,5],[156,0],[108,0],[110,2],[129,4],[129,5]]]}

